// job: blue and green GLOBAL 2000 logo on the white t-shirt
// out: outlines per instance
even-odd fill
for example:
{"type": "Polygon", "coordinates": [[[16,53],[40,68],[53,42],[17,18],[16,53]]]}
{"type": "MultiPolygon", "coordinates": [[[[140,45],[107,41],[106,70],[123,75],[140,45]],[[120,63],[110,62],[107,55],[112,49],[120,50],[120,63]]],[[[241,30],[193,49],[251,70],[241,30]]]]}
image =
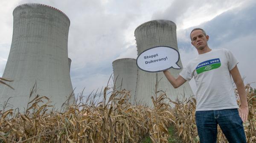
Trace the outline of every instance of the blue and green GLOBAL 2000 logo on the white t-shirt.
{"type": "Polygon", "coordinates": [[[201,74],[202,72],[207,72],[212,69],[217,69],[220,66],[221,66],[221,60],[219,58],[207,60],[198,64],[198,66],[196,67],[196,72],[197,74],[201,74]]]}

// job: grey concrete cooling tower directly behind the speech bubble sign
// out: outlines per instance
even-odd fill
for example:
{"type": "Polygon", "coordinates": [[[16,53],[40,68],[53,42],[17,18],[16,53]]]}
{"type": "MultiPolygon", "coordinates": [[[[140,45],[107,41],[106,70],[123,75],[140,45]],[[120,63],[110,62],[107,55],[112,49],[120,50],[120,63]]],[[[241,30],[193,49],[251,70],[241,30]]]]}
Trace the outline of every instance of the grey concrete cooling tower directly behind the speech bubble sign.
{"type": "MultiPolygon", "coordinates": [[[[138,55],[146,49],[155,46],[169,46],[178,51],[177,37],[176,37],[176,25],[169,20],[152,20],[135,29],[135,37],[137,42],[138,55]]],[[[179,60],[177,63],[182,69],[182,63],[179,60]]],[[[169,69],[171,74],[177,78],[182,69],[169,69]]],[[[177,99],[183,99],[193,95],[192,89],[189,83],[186,82],[177,89],[174,89],[166,79],[163,72],[149,73],[138,69],[137,77],[137,89],[135,94],[136,101],[147,103],[149,106],[153,105],[151,96],[154,97],[154,89],[157,80],[158,90],[166,91],[167,96],[175,101],[177,99]]]]}

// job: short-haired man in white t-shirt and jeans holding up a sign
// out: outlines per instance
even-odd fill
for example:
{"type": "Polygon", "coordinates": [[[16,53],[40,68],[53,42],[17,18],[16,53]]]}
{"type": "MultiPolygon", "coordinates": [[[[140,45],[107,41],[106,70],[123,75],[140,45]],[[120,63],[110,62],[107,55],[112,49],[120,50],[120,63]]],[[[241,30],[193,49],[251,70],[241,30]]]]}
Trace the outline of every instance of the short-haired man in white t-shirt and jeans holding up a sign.
{"type": "Polygon", "coordinates": [[[163,73],[174,88],[194,77],[198,87],[195,119],[200,143],[216,143],[217,124],[230,143],[246,143],[242,123],[247,120],[248,104],[236,66],[238,61],[227,49],[210,49],[209,36],[203,29],[193,29],[190,38],[198,57],[188,63],[177,79],[169,71],[163,73]],[[239,93],[240,107],[236,103],[230,74],[239,93]]]}

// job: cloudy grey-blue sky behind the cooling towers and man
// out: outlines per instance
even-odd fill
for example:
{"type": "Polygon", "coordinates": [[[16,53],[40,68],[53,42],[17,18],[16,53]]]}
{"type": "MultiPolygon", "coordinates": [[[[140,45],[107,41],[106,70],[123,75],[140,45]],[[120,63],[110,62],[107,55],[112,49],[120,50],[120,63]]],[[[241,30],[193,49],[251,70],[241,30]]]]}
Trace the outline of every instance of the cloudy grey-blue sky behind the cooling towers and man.
{"type": "MultiPolygon", "coordinates": [[[[0,0],[0,77],[12,43],[12,11],[23,3],[53,6],[70,18],[68,55],[76,93],[106,86],[113,60],[137,58],[134,30],[157,19],[176,23],[183,66],[198,54],[189,33],[201,27],[211,49],[229,49],[237,57],[244,83],[256,82],[255,0],[0,0]]],[[[193,80],[190,85],[195,91],[193,80]]]]}

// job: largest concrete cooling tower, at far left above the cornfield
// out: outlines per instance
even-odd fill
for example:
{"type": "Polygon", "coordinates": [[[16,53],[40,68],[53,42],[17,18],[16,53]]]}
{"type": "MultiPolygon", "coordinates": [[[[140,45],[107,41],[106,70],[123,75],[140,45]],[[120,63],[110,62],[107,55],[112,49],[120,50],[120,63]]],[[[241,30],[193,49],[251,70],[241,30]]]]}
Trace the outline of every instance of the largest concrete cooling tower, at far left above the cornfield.
{"type": "MultiPolygon", "coordinates": [[[[26,109],[35,94],[50,98],[55,109],[73,91],[67,39],[70,20],[62,11],[43,4],[23,4],[13,11],[12,45],[3,78],[15,90],[0,85],[0,103],[7,101],[13,109],[26,109]],[[29,93],[36,83],[36,93],[29,93]]],[[[70,96],[69,104],[74,102],[70,96]]]]}

